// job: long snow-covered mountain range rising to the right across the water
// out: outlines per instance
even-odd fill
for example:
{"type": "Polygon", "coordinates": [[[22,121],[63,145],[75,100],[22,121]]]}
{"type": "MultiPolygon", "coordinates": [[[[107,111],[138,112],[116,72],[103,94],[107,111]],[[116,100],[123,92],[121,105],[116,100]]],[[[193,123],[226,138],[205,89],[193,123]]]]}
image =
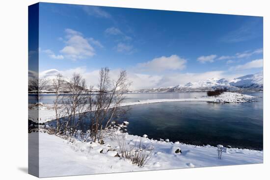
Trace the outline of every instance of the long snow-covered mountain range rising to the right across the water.
{"type": "Polygon", "coordinates": [[[189,92],[209,91],[224,88],[228,91],[263,91],[263,72],[232,79],[210,78],[196,82],[189,82],[184,85],[141,89],[136,92],[189,92]]]}

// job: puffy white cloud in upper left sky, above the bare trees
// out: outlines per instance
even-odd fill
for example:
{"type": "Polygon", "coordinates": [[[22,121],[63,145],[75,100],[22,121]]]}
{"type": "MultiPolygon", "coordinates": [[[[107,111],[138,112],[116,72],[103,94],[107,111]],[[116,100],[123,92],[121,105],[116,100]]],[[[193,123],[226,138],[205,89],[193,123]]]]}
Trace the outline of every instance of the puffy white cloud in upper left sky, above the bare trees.
{"type": "Polygon", "coordinates": [[[95,55],[94,48],[89,44],[87,38],[84,38],[81,32],[73,29],[65,29],[66,46],[60,51],[65,57],[77,60],[95,55]]]}

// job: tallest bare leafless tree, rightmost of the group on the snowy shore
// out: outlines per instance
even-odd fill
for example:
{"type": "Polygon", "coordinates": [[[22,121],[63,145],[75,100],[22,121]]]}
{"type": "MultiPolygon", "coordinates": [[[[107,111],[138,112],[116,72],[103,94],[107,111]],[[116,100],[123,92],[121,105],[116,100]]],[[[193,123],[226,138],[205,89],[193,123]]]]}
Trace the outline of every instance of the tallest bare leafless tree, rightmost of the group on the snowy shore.
{"type": "Polygon", "coordinates": [[[124,101],[124,94],[128,92],[129,86],[126,71],[121,71],[116,80],[111,80],[108,68],[100,70],[98,93],[93,95],[90,90],[88,95],[90,131],[94,141],[101,143],[105,135],[104,130],[108,128],[110,122],[125,113],[124,108],[119,105],[124,101]]]}

